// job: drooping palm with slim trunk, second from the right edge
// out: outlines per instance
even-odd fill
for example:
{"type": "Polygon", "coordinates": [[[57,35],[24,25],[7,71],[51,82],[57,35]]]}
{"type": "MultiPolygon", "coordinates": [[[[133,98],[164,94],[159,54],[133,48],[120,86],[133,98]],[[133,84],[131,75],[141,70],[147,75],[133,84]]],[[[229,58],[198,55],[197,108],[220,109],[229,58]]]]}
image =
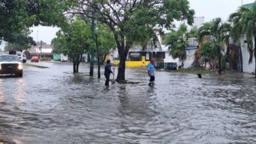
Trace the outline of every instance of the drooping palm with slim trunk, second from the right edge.
{"type": "Polygon", "coordinates": [[[221,74],[222,71],[221,50],[224,46],[224,42],[228,41],[229,31],[230,24],[223,23],[221,18],[215,18],[211,22],[203,24],[203,26],[198,29],[198,40],[202,42],[204,37],[210,37],[210,41],[213,41],[214,46],[217,48],[219,74],[221,74]]]}

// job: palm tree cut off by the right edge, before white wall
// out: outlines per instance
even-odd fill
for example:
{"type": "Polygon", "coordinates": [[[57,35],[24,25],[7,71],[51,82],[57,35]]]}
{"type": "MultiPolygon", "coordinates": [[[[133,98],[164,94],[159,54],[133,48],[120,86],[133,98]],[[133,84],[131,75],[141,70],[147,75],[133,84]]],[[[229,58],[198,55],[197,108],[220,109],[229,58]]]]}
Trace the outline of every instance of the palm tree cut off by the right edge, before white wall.
{"type": "MultiPolygon", "coordinates": [[[[253,41],[256,42],[256,3],[251,8],[240,7],[238,12],[230,15],[230,22],[233,24],[232,37],[239,39],[241,35],[245,34],[247,39],[247,48],[249,50],[249,63],[253,60],[253,52],[255,57],[255,72],[256,72],[256,48],[253,41]]],[[[256,78],[256,75],[255,75],[256,78]]]]}

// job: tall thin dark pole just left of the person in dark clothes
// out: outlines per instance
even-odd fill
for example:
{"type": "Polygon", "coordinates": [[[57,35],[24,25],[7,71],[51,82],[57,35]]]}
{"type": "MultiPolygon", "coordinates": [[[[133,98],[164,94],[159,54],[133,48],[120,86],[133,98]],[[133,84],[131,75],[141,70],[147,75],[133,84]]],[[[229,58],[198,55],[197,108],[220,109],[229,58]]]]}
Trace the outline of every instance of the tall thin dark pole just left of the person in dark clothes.
{"type": "MultiPolygon", "coordinates": [[[[92,31],[92,40],[95,42],[95,12],[92,10],[92,19],[91,19],[91,31],[92,31]]],[[[95,59],[95,46],[91,46],[91,62],[90,62],[90,76],[93,76],[93,65],[95,59]]]]}

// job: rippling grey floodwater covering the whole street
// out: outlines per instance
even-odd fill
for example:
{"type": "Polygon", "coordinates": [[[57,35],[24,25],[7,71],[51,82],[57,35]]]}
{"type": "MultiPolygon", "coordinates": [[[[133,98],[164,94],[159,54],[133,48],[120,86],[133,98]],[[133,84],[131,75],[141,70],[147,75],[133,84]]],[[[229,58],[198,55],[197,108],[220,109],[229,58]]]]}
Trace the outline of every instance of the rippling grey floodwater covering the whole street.
{"type": "MultiPolygon", "coordinates": [[[[40,64],[40,63],[39,63],[40,64]]],[[[127,69],[139,84],[89,77],[89,65],[24,66],[0,78],[0,139],[15,143],[256,143],[256,79],[127,69]],[[85,73],[85,74],[83,74],[85,73]]],[[[102,71],[103,73],[103,71],[102,71]]],[[[117,71],[116,71],[117,73],[117,71]]],[[[1,142],[1,141],[0,141],[1,142]]]]}

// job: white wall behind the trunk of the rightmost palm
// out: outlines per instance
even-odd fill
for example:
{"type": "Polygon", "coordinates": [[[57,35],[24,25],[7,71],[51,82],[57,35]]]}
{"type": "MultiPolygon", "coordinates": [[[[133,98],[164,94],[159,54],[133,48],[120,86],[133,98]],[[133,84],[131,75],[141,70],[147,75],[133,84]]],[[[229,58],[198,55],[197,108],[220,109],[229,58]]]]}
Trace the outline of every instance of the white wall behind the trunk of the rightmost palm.
{"type": "Polygon", "coordinates": [[[241,37],[241,52],[242,52],[242,63],[243,63],[243,71],[244,72],[255,72],[255,57],[253,56],[253,62],[249,62],[249,51],[247,50],[247,43],[244,43],[246,41],[246,37],[241,37]]]}

